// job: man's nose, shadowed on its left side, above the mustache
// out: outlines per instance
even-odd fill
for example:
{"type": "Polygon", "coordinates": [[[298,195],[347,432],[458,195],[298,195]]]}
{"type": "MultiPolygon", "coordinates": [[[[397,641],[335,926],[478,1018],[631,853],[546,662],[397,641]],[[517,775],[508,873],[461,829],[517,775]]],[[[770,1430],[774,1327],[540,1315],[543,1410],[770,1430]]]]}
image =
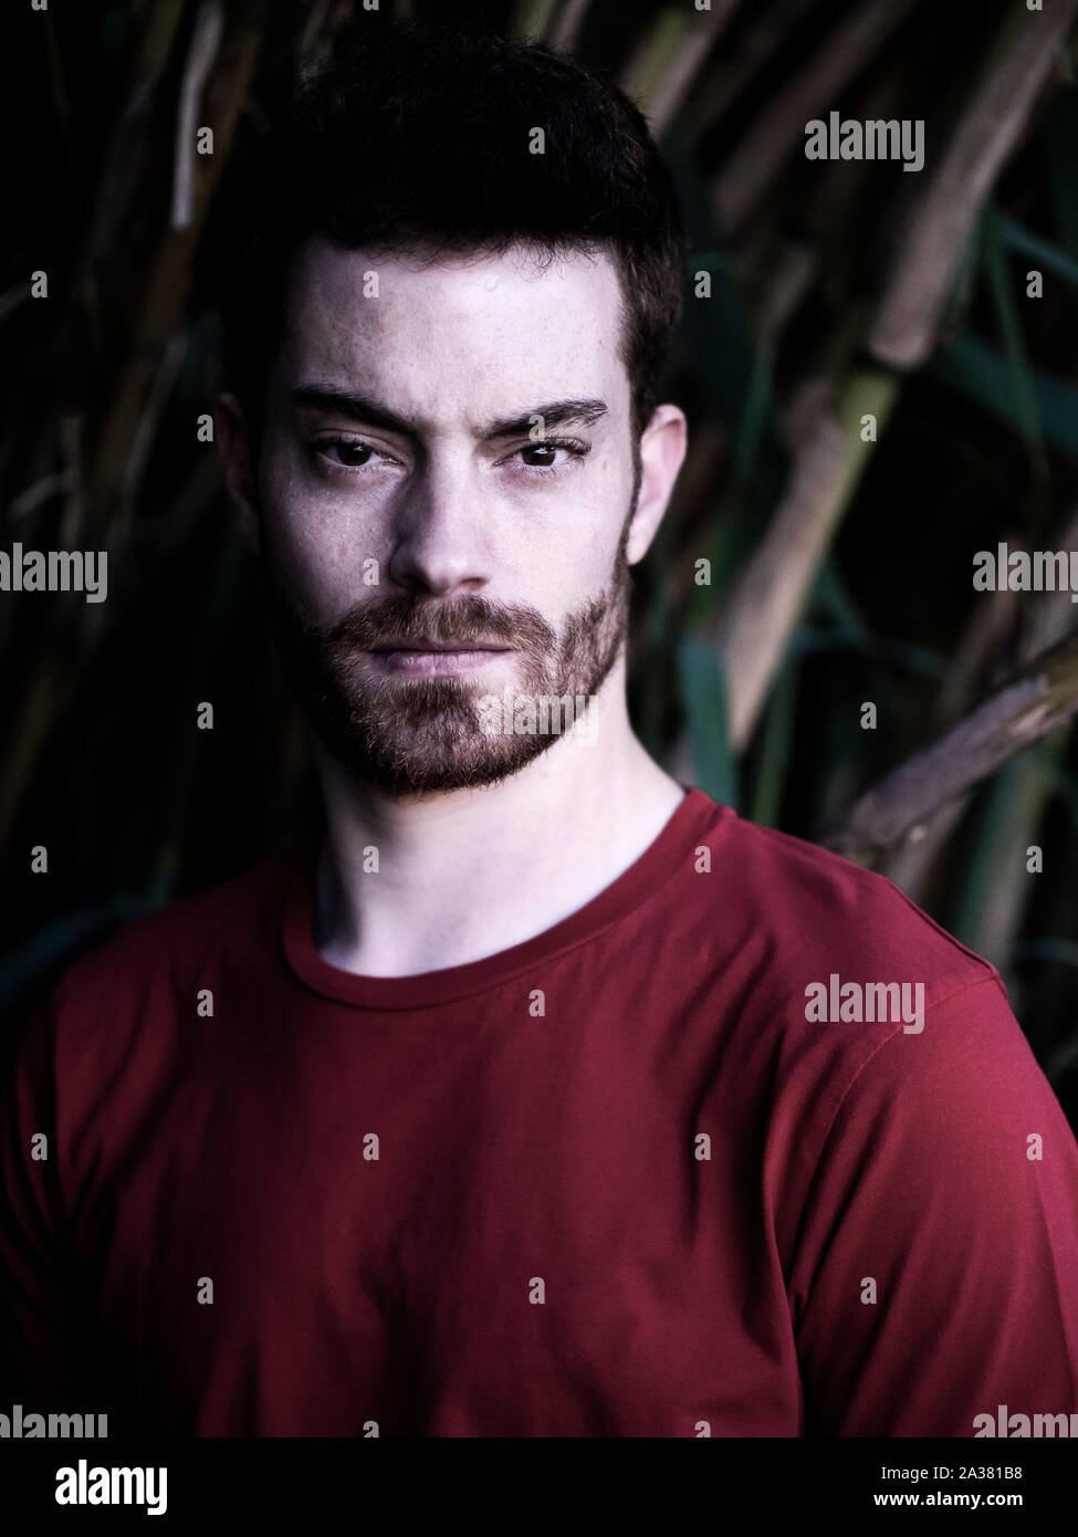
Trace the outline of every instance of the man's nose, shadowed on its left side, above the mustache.
{"type": "Polygon", "coordinates": [[[486,500],[466,458],[431,455],[397,504],[388,575],[435,595],[477,592],[491,579],[486,500]]]}

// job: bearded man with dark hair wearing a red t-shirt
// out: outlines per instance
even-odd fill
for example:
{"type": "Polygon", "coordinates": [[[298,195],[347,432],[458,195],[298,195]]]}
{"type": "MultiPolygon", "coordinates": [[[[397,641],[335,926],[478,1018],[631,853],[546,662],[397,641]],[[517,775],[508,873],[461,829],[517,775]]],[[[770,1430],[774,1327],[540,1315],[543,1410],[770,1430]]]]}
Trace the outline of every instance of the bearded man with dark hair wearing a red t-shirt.
{"type": "Polygon", "coordinates": [[[629,725],[686,443],[643,120],[408,31],[265,166],[217,424],[324,836],[121,930],[28,1031],[23,1402],[185,1436],[1073,1413],[1078,1148],[998,974],[629,725]]]}

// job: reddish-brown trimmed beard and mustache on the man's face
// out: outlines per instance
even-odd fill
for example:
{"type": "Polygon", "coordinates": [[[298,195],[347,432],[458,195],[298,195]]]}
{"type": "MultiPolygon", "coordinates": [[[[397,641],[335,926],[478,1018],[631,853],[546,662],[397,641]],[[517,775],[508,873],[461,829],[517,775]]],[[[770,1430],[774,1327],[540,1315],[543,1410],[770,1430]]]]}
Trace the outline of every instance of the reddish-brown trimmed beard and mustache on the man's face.
{"type": "MultiPolygon", "coordinates": [[[[491,732],[489,681],[469,676],[398,678],[375,672],[364,655],[374,647],[429,639],[511,649],[511,690],[521,699],[594,696],[614,667],[629,624],[630,575],[626,559],[632,507],[621,530],[606,587],[569,613],[560,633],[538,610],[492,603],[474,593],[437,598],[386,598],[357,604],[332,626],[320,626],[263,558],[263,596],[269,630],[284,675],[315,736],[348,773],[392,796],[424,796],[497,784],[518,773],[558,741],[558,735],[514,730],[515,712],[491,732]]],[[[592,722],[595,724],[595,722],[592,722]]]]}

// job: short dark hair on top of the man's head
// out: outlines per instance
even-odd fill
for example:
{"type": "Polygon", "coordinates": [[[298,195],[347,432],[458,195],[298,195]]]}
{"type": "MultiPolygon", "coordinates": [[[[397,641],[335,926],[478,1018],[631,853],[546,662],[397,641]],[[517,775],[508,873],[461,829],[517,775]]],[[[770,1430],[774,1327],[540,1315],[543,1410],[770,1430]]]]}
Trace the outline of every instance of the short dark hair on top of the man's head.
{"type": "Polygon", "coordinates": [[[634,443],[681,315],[674,180],[606,74],[543,43],[389,26],[308,75],[245,168],[220,290],[223,387],[255,441],[292,254],[309,235],[378,254],[546,260],[604,249],[623,290],[634,443]],[[543,154],[531,152],[534,129],[543,154]]]}

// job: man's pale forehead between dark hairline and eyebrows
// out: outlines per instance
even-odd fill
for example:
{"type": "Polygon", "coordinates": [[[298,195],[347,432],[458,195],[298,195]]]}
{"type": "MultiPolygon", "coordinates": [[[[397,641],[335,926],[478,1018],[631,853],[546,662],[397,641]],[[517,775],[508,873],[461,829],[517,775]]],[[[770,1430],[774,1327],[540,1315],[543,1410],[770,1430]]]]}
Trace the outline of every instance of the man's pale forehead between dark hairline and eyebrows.
{"type": "Polygon", "coordinates": [[[289,271],[278,370],[284,387],[361,386],[432,424],[583,395],[627,410],[621,320],[606,252],[420,260],[312,238],[289,271]]]}

